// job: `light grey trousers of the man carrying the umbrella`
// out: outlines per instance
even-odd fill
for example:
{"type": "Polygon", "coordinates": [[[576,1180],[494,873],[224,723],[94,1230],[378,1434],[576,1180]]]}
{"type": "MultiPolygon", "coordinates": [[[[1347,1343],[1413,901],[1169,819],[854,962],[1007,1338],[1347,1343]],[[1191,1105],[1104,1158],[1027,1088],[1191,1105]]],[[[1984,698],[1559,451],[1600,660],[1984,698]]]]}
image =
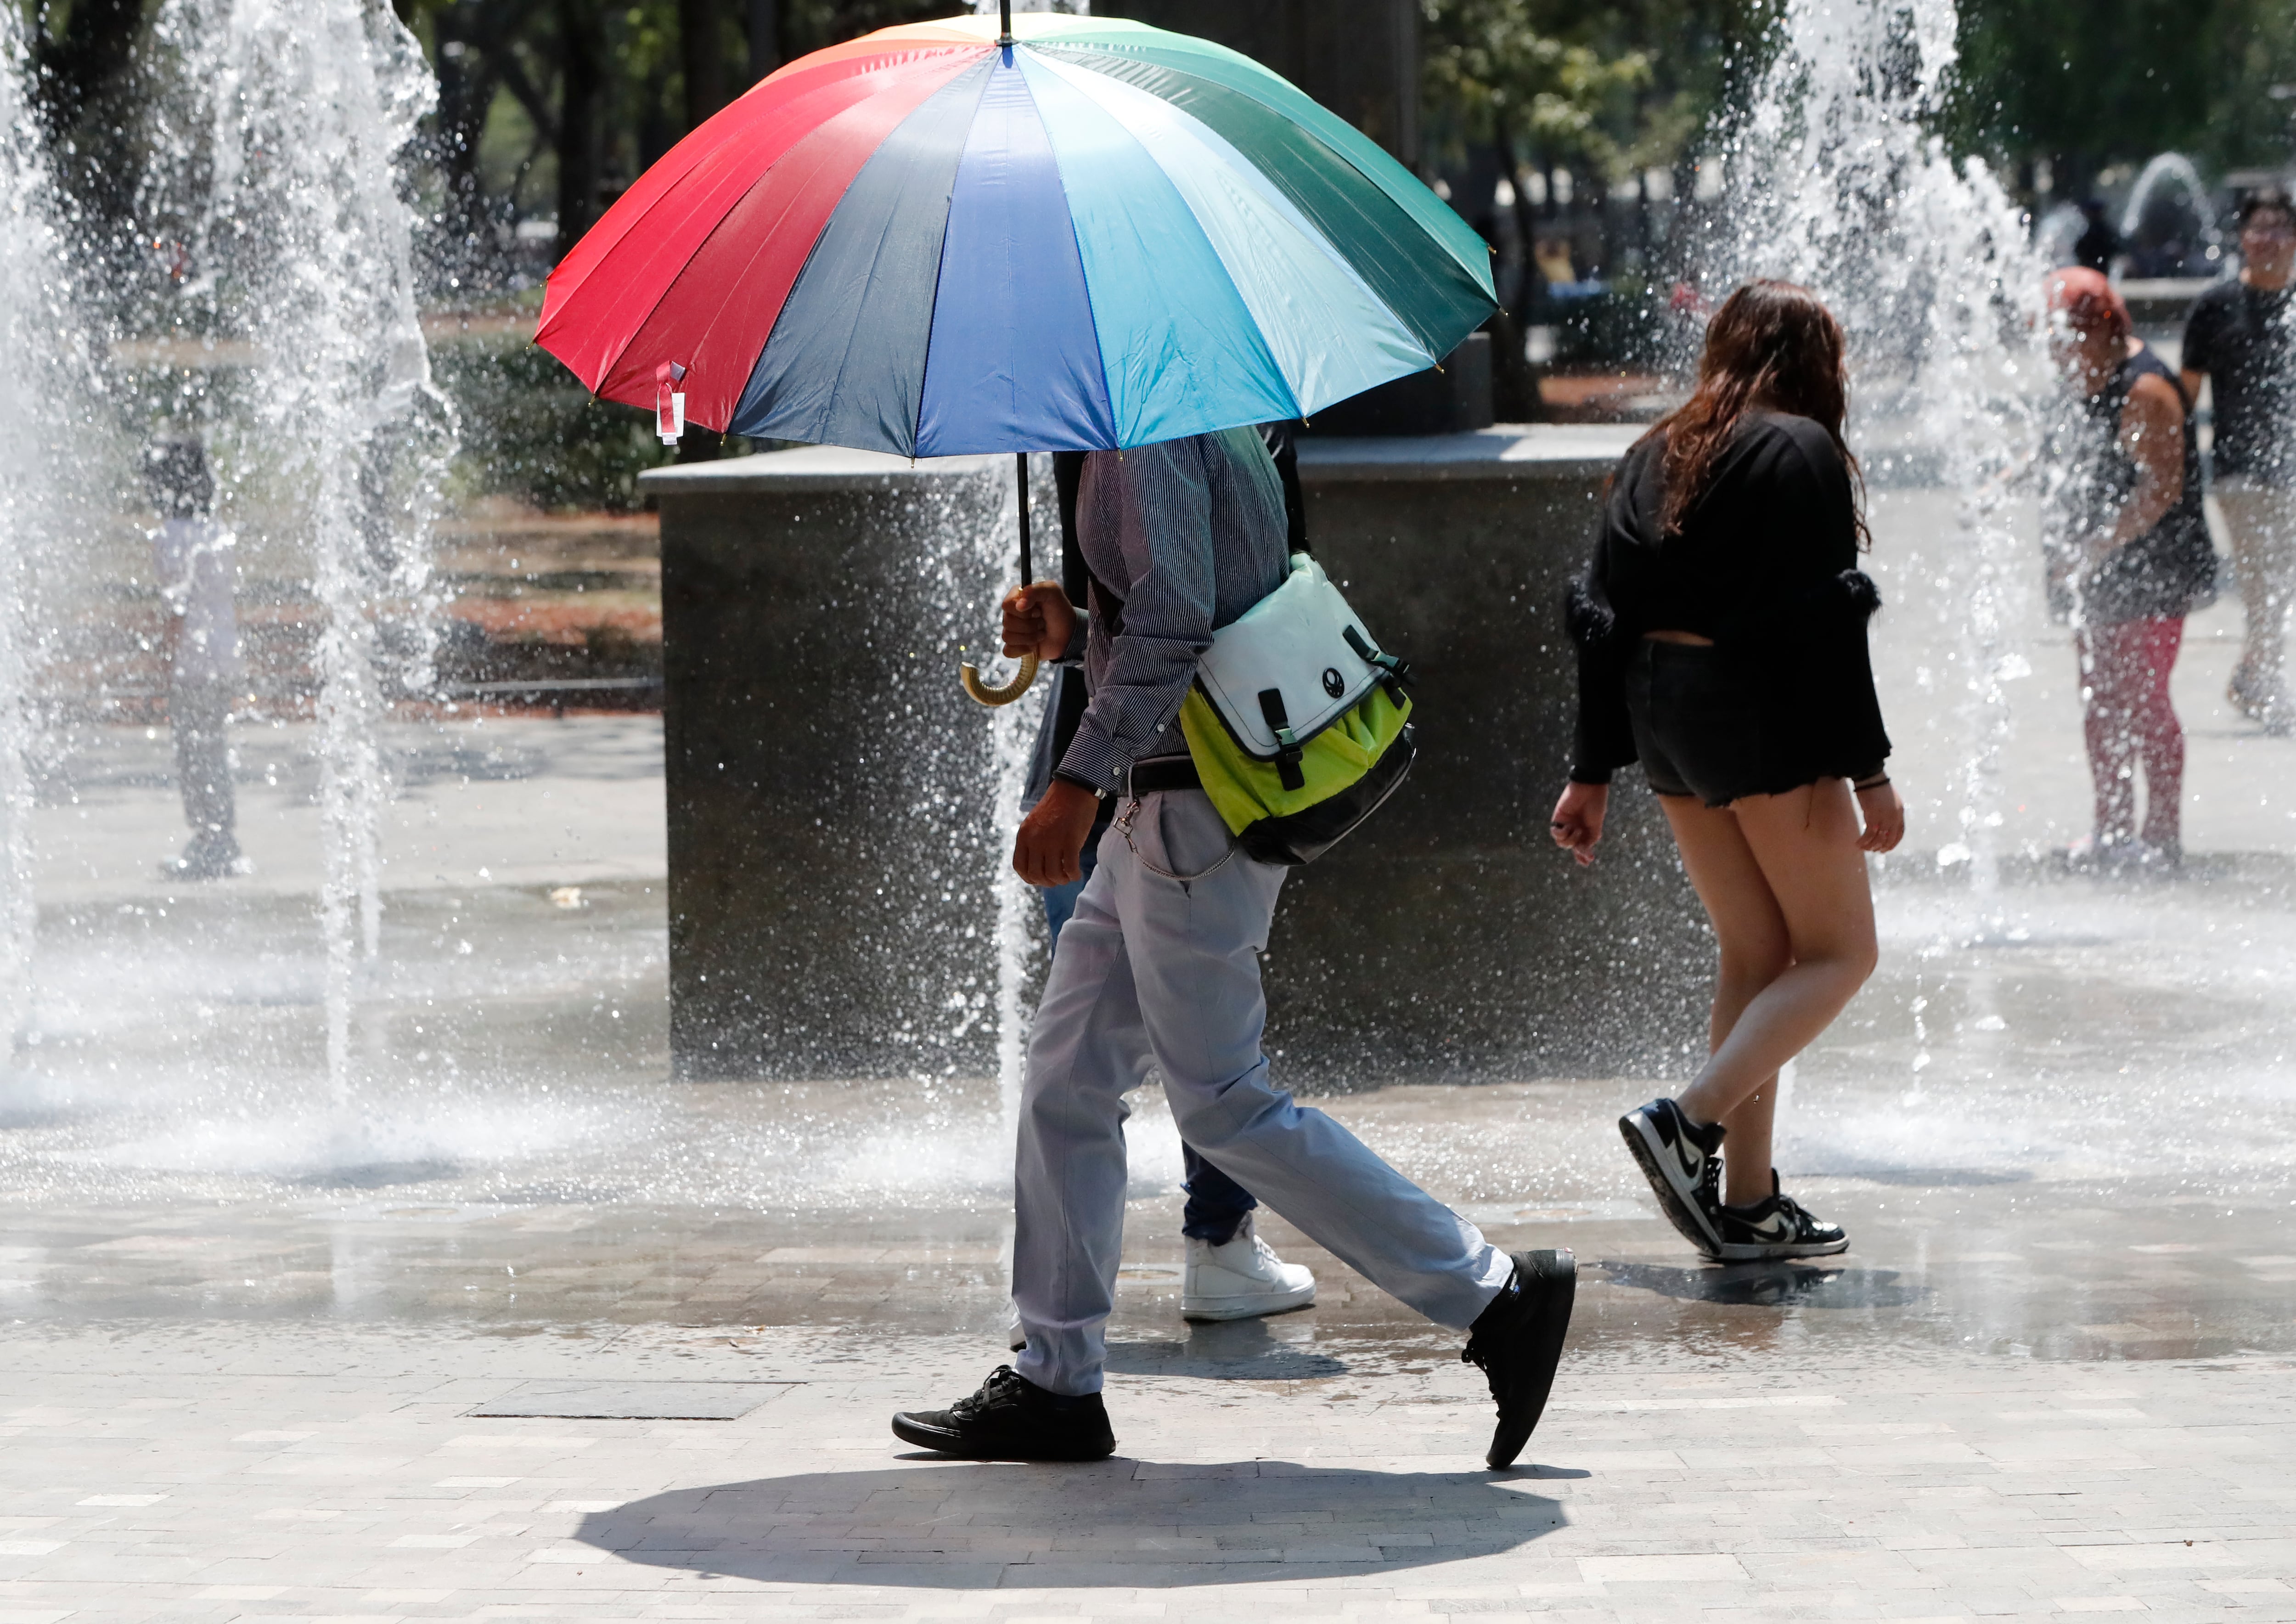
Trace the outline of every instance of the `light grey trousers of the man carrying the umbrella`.
{"type": "MultiPolygon", "coordinates": [[[[1228,850],[1201,790],[1148,795],[1141,854],[1194,875],[1228,850]]],[[[1283,871],[1242,852],[1201,880],[1148,871],[1125,832],[1061,933],[1029,1036],[1015,1160],[1017,1369],[1052,1392],[1100,1392],[1125,1231],[1125,1091],[1155,1070],[1185,1137],[1224,1174],[1373,1284],[1467,1328],[1508,1256],[1442,1201],[1267,1080],[1261,951],[1283,871]]]]}

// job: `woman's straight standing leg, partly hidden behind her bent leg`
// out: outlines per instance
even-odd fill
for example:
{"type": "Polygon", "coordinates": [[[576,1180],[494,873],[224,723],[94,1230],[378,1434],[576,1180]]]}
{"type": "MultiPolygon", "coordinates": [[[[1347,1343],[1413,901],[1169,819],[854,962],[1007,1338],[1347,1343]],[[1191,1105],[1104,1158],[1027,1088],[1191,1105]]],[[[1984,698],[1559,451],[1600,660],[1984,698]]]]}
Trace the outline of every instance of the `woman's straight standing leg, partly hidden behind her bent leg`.
{"type": "MultiPolygon", "coordinates": [[[[1683,871],[1706,905],[1722,965],[1715,976],[1715,1008],[1706,1027],[1708,1050],[1720,1050],[1747,1004],[1793,965],[1786,917],[1754,850],[1729,809],[1706,806],[1692,795],[1662,795],[1683,871]]],[[[1697,1112],[1692,1112],[1697,1116],[1697,1112]]],[[[1756,1084],[1743,1103],[1720,1114],[1722,1199],[1750,1206],[1770,1194],[1770,1126],[1777,1116],[1777,1075],[1756,1084]]]]}

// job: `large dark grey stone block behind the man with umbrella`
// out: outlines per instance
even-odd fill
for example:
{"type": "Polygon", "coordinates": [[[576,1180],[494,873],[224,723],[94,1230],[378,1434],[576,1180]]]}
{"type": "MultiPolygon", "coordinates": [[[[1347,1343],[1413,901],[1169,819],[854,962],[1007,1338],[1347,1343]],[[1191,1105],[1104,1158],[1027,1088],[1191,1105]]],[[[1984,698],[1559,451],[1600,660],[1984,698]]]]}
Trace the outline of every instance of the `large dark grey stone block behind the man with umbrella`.
{"type": "MultiPolygon", "coordinates": [[[[1318,556],[1419,671],[1421,760],[1286,884],[1267,1043],[1295,1086],[1704,1052],[1713,949],[1639,779],[1591,871],[1545,829],[1575,691],[1559,602],[1628,436],[1302,443],[1318,556]]],[[[1015,567],[1010,469],[822,448],[645,478],[682,1075],[994,1070],[999,951],[1040,958],[1033,896],[1001,877],[1035,696],[983,712],[955,666],[1015,567]]],[[[1049,471],[1035,501],[1052,533],[1049,471]]]]}

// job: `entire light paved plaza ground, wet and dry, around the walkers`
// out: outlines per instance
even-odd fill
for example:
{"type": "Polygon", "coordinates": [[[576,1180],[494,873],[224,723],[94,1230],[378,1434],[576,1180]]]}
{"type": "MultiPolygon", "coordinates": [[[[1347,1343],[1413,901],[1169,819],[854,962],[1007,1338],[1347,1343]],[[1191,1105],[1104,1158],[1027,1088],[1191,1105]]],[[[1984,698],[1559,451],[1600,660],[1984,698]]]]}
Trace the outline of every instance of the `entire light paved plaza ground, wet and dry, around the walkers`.
{"type": "MultiPolygon", "coordinates": [[[[1952,627],[1887,567],[1885,533],[1885,694],[1940,691],[1952,627]]],[[[243,740],[257,873],[207,889],[154,871],[165,737],[87,735],[0,1082],[0,1622],[2291,1619],[2296,742],[2225,712],[2232,627],[2195,618],[2179,671],[2177,877],[2060,861],[2087,790],[2046,627],[1993,887],[1938,861],[1956,735],[1892,701],[1883,969],[1779,1142],[1846,1256],[1701,1266],[1609,1126],[1660,1080],[1320,1098],[1495,1238],[1580,1256],[1506,1475],[1458,1337],[1279,1220],[1320,1302],[1180,1321],[1153,1100],[1120,1456],[902,1452],[891,1408],[1001,1358],[994,1084],[666,1080],[652,719],[395,735],[344,1103],[308,733],[243,740]]]]}

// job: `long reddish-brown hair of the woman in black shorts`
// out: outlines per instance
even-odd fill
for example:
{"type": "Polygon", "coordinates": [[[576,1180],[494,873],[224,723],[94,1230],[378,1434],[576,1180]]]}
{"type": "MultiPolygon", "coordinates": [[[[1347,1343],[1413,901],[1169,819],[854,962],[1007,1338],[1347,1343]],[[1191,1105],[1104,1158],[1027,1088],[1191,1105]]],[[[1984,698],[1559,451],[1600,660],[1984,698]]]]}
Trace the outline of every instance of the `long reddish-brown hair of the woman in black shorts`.
{"type": "Polygon", "coordinates": [[[1848,345],[1835,312],[1793,283],[1756,280],[1740,287],[1706,326],[1699,386],[1690,400],[1651,425],[1644,441],[1665,434],[1667,501],[1660,533],[1683,528],[1683,515],[1706,494],[1715,459],[1756,404],[1809,418],[1823,427],[1857,482],[1857,544],[1869,547],[1864,471],[1841,441],[1848,416],[1848,345]]]}

